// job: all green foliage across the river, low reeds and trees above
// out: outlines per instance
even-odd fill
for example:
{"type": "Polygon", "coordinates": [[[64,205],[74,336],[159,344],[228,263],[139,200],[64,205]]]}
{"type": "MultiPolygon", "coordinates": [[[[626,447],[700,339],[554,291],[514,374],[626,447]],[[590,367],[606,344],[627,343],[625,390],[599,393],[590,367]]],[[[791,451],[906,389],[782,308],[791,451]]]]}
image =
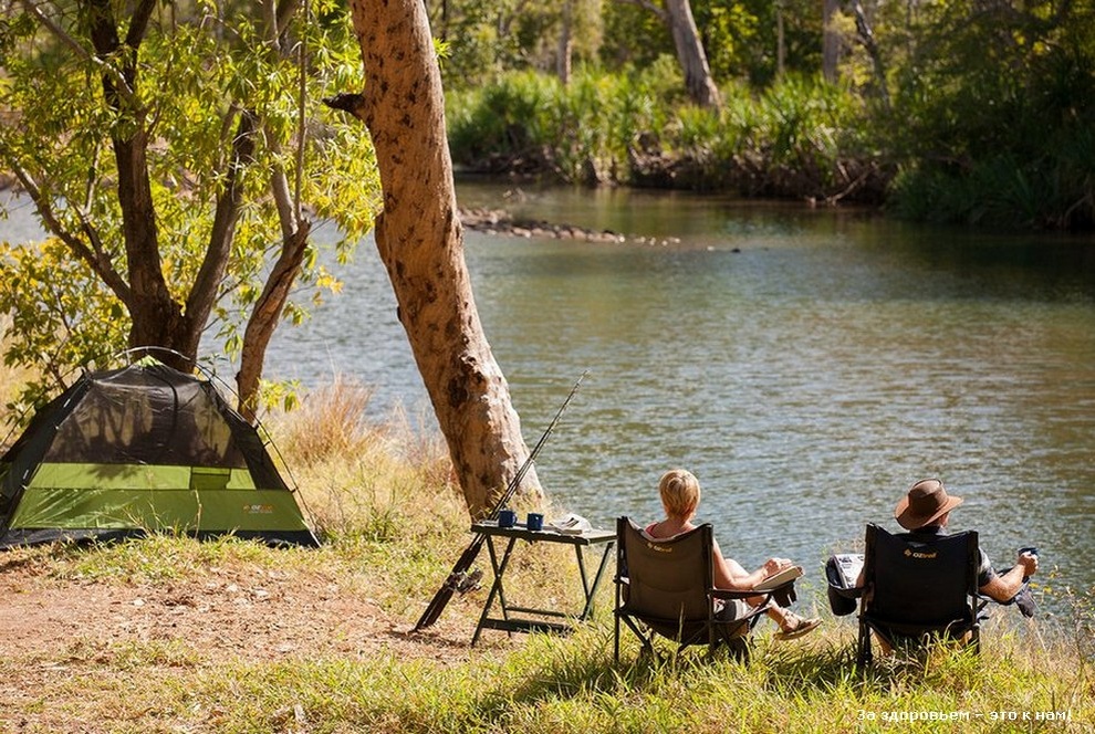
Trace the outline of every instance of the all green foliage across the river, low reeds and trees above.
{"type": "MultiPolygon", "coordinates": [[[[602,7],[604,32],[585,56],[596,63],[575,80],[580,88],[538,81],[533,70],[551,67],[543,55],[539,63],[496,56],[487,75],[447,76],[458,158],[571,181],[886,198],[896,213],[934,221],[1095,227],[1091,0],[865,0],[855,6],[859,18],[845,4],[828,29],[841,39],[841,82],[832,90],[813,81],[825,30],[817,3],[692,0],[691,8],[726,99],[720,120],[659,91],[642,98],[632,124],[620,123],[640,97],[618,80],[671,60],[674,45],[645,3],[615,0],[602,7]],[[515,77],[515,69],[526,75],[515,77]],[[605,78],[594,84],[593,73],[605,78]],[[583,104],[596,111],[580,111],[583,104]],[[488,132],[483,139],[473,139],[476,125],[488,132]],[[646,170],[634,170],[635,150],[646,170]]],[[[546,35],[536,48],[546,53],[557,29],[539,32],[546,35]]]]}

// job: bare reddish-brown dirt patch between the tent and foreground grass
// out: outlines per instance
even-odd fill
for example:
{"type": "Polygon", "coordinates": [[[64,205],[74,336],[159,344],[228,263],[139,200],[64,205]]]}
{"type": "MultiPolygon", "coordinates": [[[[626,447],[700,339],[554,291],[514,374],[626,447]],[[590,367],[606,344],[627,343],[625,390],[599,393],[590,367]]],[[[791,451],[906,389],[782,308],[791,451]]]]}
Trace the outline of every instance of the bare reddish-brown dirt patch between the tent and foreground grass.
{"type": "MultiPolygon", "coordinates": [[[[377,600],[321,573],[210,569],[159,585],[59,581],[27,567],[0,572],[3,653],[58,660],[75,643],[112,654],[126,643],[180,642],[198,658],[244,662],[302,656],[375,656],[459,661],[467,620],[444,617],[413,635],[377,600]]],[[[425,601],[423,602],[425,605],[425,601]]]]}

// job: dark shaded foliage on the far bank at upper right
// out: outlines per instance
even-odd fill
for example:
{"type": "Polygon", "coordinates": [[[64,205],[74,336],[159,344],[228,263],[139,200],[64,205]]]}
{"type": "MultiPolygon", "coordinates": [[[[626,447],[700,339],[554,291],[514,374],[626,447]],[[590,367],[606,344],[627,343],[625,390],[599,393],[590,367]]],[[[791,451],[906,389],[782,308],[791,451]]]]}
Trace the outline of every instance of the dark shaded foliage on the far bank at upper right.
{"type": "Polygon", "coordinates": [[[893,73],[894,209],[991,227],[1095,224],[1095,7],[926,6],[893,73]]]}

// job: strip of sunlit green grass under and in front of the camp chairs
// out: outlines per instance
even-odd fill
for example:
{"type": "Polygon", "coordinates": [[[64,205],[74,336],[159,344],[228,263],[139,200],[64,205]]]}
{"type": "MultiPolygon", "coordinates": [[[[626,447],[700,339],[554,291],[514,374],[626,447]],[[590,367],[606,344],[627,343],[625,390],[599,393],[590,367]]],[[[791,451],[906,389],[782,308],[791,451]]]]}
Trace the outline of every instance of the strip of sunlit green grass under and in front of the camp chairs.
{"type": "MultiPolygon", "coordinates": [[[[687,656],[616,667],[609,643],[601,623],[450,665],[383,653],[227,663],[167,671],[128,705],[145,700],[175,722],[222,732],[939,731],[931,717],[950,715],[966,719],[947,731],[1085,731],[1093,715],[1089,665],[1045,665],[1014,640],[980,658],[938,650],[925,665],[884,664],[866,677],[828,635],[779,649],[762,642],[751,664],[687,656]]],[[[103,679],[132,659],[102,665],[103,679]]]]}

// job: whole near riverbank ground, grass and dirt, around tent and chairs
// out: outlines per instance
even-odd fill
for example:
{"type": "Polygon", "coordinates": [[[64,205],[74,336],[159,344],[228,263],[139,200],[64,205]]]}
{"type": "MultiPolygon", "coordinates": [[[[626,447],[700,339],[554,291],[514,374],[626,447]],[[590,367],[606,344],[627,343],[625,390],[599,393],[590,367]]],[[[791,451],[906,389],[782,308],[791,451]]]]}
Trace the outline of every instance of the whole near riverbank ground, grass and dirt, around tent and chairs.
{"type": "MultiPolygon", "coordinates": [[[[327,539],[317,550],[159,536],[0,555],[8,610],[13,598],[49,591],[54,602],[74,599],[69,614],[80,618],[75,633],[50,646],[7,636],[0,731],[1092,730],[1095,650],[1089,608],[1078,606],[1077,621],[1086,623],[990,623],[980,659],[938,649],[926,661],[889,660],[866,675],[853,663],[852,618],[832,617],[791,643],[773,641],[771,623],[762,622],[748,665],[702,654],[639,662],[629,640],[616,665],[608,585],[597,618],[565,638],[492,632],[470,648],[486,589],[455,598],[437,630],[408,635],[470,539],[467,516],[441,445],[416,438],[406,417],[363,424],[367,400],[367,390],[340,384],[313,395],[304,410],[268,421],[327,539]],[[250,606],[261,601],[268,611],[250,626],[237,628],[227,615],[221,629],[179,631],[185,617],[200,619],[195,596],[236,594],[252,581],[250,606]],[[277,591],[263,600],[259,586],[277,591]],[[106,605],[108,623],[93,627],[92,608],[107,593],[125,602],[106,605]],[[294,601],[280,604],[282,597],[294,601]],[[171,599],[178,614],[166,608],[159,622],[142,627],[140,614],[156,598],[171,599]],[[312,610],[321,598],[343,605],[350,629],[307,629],[310,619],[321,626],[312,610]],[[373,610],[368,620],[350,616],[365,607],[373,610]],[[298,636],[306,643],[243,651],[244,638],[291,618],[305,626],[298,636]],[[331,639],[352,637],[366,622],[371,631],[347,644],[331,639]],[[932,719],[940,715],[958,721],[932,719]]],[[[524,550],[510,588],[531,601],[565,602],[573,562],[540,546],[524,550]]],[[[811,576],[800,605],[820,608],[811,576]]],[[[242,614],[238,595],[231,601],[242,614]]],[[[41,614],[43,626],[65,621],[41,614]]],[[[3,611],[0,619],[8,630],[18,621],[3,611]]]]}

